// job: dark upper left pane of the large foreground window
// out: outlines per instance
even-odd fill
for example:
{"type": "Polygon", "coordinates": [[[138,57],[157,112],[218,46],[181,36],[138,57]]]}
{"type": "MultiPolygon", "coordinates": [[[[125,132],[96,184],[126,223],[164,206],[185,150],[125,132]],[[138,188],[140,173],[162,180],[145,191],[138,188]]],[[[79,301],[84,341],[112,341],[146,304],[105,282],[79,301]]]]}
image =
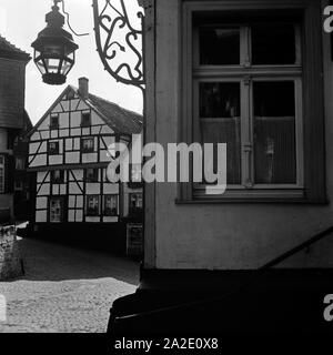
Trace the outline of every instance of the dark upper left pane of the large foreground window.
{"type": "Polygon", "coordinates": [[[239,28],[201,28],[199,41],[201,65],[240,64],[239,28]]]}

